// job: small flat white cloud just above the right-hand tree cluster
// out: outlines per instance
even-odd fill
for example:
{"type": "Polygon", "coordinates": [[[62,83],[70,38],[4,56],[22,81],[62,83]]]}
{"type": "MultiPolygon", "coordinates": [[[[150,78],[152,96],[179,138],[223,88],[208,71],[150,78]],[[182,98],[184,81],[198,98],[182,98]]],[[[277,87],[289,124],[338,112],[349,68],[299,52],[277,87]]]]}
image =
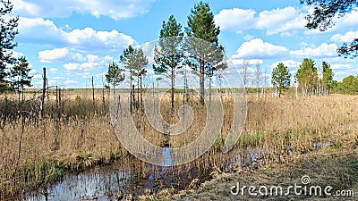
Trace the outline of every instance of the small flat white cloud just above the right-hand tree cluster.
{"type": "Polygon", "coordinates": [[[305,47],[300,50],[290,51],[295,57],[311,57],[311,58],[325,58],[337,56],[337,45],[336,44],[327,44],[322,43],[317,47],[305,47]]]}

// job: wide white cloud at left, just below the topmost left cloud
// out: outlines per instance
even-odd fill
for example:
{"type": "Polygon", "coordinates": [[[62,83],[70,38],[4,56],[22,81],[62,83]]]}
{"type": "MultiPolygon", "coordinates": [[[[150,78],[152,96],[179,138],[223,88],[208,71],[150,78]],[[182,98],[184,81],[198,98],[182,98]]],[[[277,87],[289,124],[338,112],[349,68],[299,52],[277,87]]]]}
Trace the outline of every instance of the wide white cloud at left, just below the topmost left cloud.
{"type": "Polygon", "coordinates": [[[17,39],[20,43],[68,46],[88,52],[103,50],[120,52],[124,46],[135,43],[132,37],[115,29],[111,31],[98,31],[92,28],[64,30],[57,28],[54,21],[41,18],[21,17],[19,32],[17,39]]]}

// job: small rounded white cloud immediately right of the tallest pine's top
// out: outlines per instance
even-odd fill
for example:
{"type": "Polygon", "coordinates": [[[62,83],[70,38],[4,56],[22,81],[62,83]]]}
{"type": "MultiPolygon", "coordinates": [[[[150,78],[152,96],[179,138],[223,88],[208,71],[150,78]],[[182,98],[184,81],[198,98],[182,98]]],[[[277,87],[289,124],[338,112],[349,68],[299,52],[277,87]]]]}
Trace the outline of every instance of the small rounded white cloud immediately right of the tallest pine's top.
{"type": "Polygon", "coordinates": [[[255,23],[255,11],[240,8],[223,9],[214,17],[215,22],[221,29],[241,31],[251,29],[255,23]]]}

